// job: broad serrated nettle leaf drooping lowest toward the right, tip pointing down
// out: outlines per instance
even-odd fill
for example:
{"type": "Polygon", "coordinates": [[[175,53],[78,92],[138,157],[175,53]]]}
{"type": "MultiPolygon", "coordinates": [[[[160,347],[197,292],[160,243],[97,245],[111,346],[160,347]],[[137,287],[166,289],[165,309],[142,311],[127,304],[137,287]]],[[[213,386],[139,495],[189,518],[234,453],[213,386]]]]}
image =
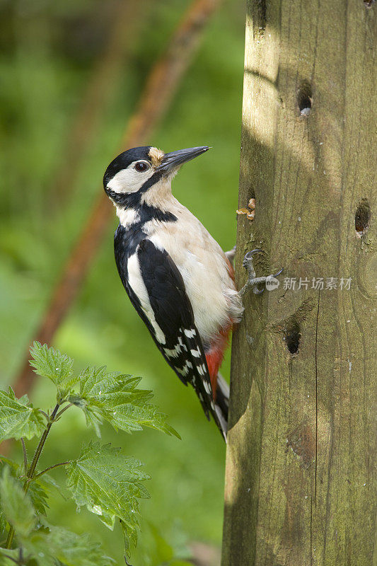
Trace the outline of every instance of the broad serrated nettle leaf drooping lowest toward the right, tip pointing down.
{"type": "Polygon", "coordinates": [[[80,458],[66,466],[67,487],[76,504],[86,506],[113,529],[121,519],[126,536],[137,541],[138,497],[149,497],[142,481],[149,475],[141,471],[141,462],[124,456],[119,448],[98,442],[84,445],[80,458]]]}

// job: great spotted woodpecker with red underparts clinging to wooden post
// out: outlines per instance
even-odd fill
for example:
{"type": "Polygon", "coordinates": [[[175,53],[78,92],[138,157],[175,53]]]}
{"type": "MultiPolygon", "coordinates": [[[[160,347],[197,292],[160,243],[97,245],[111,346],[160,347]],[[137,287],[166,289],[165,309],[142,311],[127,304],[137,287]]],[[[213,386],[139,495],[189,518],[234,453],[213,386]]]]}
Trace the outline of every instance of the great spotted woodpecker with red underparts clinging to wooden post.
{"type": "Polygon", "coordinates": [[[129,149],[110,163],[103,186],[120,219],[114,247],[124,289],[166,362],[192,385],[226,439],[228,386],[218,374],[243,305],[231,261],[171,192],[182,163],[208,149],[129,149]]]}

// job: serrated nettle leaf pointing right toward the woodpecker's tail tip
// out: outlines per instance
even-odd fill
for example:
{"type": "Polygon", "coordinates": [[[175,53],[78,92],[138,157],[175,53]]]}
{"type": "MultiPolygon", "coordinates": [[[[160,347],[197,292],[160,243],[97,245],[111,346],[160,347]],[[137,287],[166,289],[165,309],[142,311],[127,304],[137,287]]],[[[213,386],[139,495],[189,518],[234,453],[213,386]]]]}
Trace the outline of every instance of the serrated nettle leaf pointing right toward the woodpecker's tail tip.
{"type": "Polygon", "coordinates": [[[141,378],[108,373],[100,367],[87,368],[79,379],[80,393],[69,401],[83,410],[87,424],[93,424],[96,432],[98,424],[107,420],[115,429],[125,432],[151,427],[180,438],[166,415],[149,404],[151,391],[137,388],[141,378]]]}

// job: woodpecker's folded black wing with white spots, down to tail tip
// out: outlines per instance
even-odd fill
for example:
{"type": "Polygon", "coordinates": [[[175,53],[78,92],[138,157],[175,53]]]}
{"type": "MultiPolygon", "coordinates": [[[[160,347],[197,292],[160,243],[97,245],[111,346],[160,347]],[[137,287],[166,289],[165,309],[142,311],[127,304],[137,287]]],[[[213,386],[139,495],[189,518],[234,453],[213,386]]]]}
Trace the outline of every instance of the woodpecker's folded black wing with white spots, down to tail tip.
{"type": "Polygon", "coordinates": [[[141,234],[130,237],[121,225],[115,232],[115,260],[124,288],[166,362],[185,385],[191,383],[195,388],[207,418],[209,413],[213,415],[226,439],[226,417],[213,400],[207,360],[182,275],[166,250],[159,250],[146,234],[141,234]],[[151,320],[129,284],[127,262],[133,253],[137,253],[141,277],[164,341],[158,340],[151,320]]]}

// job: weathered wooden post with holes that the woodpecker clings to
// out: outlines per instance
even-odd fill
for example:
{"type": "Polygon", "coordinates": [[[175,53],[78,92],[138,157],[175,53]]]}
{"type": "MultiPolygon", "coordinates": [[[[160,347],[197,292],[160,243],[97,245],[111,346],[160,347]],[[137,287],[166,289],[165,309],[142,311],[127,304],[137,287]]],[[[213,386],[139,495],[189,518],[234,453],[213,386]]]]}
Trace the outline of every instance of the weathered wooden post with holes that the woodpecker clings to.
{"type": "Polygon", "coordinates": [[[377,564],[376,9],[248,2],[223,566],[377,564]]]}

